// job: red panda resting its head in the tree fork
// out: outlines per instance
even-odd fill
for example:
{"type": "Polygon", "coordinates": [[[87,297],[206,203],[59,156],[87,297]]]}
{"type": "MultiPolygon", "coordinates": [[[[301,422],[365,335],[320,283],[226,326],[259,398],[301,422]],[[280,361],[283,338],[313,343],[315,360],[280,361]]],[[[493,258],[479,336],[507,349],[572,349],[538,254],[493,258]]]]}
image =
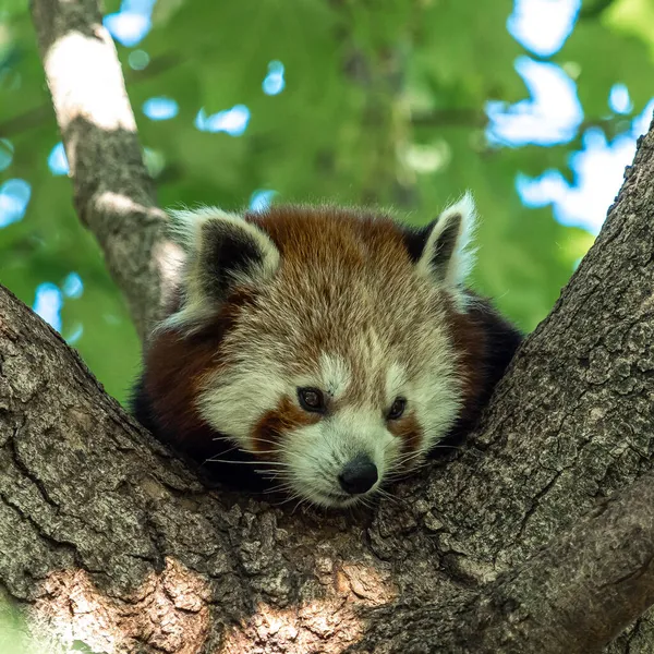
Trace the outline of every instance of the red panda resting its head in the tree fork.
{"type": "Polygon", "coordinates": [[[473,426],[520,343],[464,286],[474,214],[470,195],[423,229],[330,206],[174,213],[186,259],[136,417],[237,485],[373,495],[473,426]]]}

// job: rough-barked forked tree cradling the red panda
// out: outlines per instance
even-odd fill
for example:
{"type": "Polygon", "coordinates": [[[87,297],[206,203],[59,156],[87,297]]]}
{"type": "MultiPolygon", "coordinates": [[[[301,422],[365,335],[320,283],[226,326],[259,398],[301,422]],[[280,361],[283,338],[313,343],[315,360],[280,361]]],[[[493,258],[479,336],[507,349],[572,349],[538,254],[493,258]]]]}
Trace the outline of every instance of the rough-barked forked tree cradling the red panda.
{"type": "MultiPolygon", "coordinates": [[[[48,35],[70,35],[72,25],[73,44],[101,50],[108,65],[112,46],[93,2],[48,0],[33,12],[69,160],[84,180],[87,164],[100,171],[111,161],[85,153],[133,136],[93,124],[93,113],[71,120],[80,105],[69,106],[58,84],[74,88],[76,80],[59,77],[58,64],[71,60],[52,56],[48,35]]],[[[111,118],[129,124],[124,110],[111,118]]],[[[5,594],[33,625],[95,652],[588,652],[606,644],[654,602],[653,149],[651,131],[597,242],[520,350],[474,437],[371,512],[293,512],[208,492],[2,290],[5,594]]],[[[131,165],[131,177],[144,179],[131,165]]],[[[78,183],[78,206],[108,258],[129,252],[141,262],[135,269],[155,275],[147,244],[122,245],[121,234],[131,243],[140,227],[102,239],[102,211],[132,206],[106,202],[116,168],[97,175],[100,194],[78,183]]],[[[149,210],[147,189],[128,192],[149,210]]],[[[119,218],[149,227],[144,215],[119,218]]],[[[129,280],[117,278],[129,293],[129,280]]],[[[651,630],[641,620],[613,651],[649,651],[651,630]]]]}

